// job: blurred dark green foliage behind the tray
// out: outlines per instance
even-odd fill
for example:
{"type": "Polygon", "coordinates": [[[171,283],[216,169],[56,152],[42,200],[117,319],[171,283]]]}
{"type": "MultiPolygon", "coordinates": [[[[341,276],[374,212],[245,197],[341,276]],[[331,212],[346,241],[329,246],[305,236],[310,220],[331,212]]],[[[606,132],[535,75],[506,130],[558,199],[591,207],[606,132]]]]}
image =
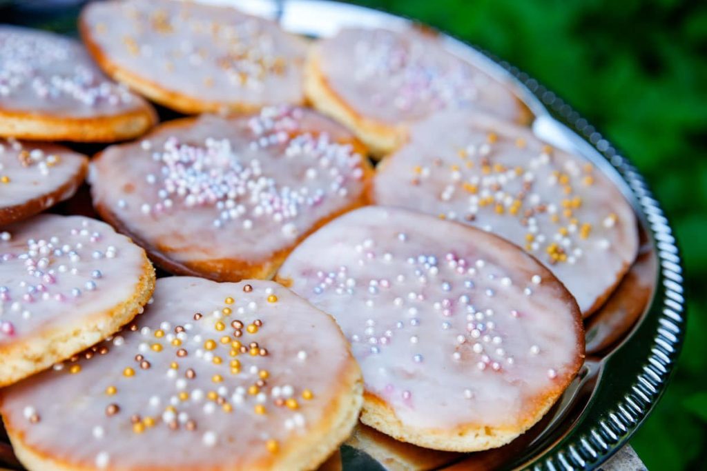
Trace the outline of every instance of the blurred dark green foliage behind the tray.
{"type": "Polygon", "coordinates": [[[631,441],[650,470],[707,467],[707,2],[357,0],[489,50],[628,156],[677,232],[689,328],[670,388],[631,441]]]}

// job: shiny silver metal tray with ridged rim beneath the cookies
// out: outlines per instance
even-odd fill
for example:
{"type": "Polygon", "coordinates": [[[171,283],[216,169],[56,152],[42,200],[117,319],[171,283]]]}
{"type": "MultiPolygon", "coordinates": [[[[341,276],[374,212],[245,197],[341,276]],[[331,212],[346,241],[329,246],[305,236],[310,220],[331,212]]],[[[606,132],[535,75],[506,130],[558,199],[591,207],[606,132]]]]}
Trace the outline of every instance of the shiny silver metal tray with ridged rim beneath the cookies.
{"type": "MultiPolygon", "coordinates": [[[[344,26],[404,28],[411,23],[370,8],[324,0],[201,1],[238,6],[309,37],[326,37],[344,26]]],[[[69,12],[75,15],[76,9],[69,12]]],[[[33,20],[21,22],[32,25],[33,20]]],[[[65,32],[75,34],[74,23],[65,32]]],[[[665,392],[682,346],[682,266],[672,229],[641,174],[569,105],[518,68],[448,35],[441,36],[456,54],[491,76],[513,83],[535,116],[532,130],[537,136],[582,155],[617,184],[638,215],[641,253],[617,291],[585,321],[588,357],[578,377],[542,421],[513,443],[481,453],[443,453],[400,443],[362,426],[322,469],[596,468],[629,441],[653,410],[665,392]]],[[[160,109],[160,116],[170,119],[175,114],[160,109]]],[[[74,147],[86,153],[100,150],[95,145],[74,147]]],[[[79,192],[74,200],[60,205],[59,211],[90,213],[86,195],[86,191],[79,192]]],[[[22,469],[0,428],[3,466],[22,469]]]]}

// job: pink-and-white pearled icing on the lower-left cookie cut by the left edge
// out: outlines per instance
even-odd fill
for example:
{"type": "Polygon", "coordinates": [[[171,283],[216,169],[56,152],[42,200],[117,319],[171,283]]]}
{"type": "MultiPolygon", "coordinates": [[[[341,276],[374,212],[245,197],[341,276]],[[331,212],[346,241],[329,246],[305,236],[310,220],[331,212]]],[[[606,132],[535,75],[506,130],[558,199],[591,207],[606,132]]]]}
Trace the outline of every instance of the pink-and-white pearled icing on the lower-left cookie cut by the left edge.
{"type": "Polygon", "coordinates": [[[83,216],[38,215],[0,229],[0,349],[81,324],[131,299],[144,251],[83,216]]]}

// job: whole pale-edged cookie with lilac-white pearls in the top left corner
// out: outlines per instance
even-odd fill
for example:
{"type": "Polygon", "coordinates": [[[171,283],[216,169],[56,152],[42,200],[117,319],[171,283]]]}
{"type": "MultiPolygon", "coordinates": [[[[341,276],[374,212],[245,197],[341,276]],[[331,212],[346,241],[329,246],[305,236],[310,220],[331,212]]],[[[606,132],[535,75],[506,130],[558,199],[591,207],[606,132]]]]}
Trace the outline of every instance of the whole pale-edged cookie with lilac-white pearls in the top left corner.
{"type": "Polygon", "coordinates": [[[152,107],[108,81],[80,43],[0,25],[0,136],[112,142],[155,122],[152,107]]]}

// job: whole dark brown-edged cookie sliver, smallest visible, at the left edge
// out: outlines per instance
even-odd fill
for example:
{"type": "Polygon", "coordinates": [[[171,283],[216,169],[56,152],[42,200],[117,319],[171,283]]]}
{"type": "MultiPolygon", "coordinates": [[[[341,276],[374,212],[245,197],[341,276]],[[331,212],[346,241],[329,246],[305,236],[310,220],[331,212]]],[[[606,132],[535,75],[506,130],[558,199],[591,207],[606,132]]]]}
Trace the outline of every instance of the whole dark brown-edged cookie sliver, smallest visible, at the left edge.
{"type": "Polygon", "coordinates": [[[0,138],[0,226],[70,198],[87,168],[85,155],[59,145],[0,138]]]}

